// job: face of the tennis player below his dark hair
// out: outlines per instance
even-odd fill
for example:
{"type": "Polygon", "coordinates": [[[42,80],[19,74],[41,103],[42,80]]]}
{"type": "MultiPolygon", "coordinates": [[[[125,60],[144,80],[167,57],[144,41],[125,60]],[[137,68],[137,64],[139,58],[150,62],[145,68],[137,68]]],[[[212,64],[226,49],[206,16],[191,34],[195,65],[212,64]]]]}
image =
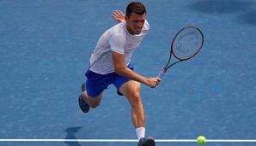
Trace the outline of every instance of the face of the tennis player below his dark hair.
{"type": "Polygon", "coordinates": [[[140,34],[143,29],[143,25],[146,20],[146,14],[137,15],[136,13],[131,13],[131,16],[128,18],[125,16],[126,27],[129,33],[131,34],[140,34]]]}

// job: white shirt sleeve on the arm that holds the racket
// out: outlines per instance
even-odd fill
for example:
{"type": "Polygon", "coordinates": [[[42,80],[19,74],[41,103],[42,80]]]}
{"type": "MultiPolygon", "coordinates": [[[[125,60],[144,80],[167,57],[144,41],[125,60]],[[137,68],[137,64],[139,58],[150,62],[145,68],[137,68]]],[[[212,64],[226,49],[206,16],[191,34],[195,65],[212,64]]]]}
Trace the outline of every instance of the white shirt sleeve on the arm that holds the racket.
{"type": "Polygon", "coordinates": [[[125,54],[125,44],[126,44],[126,35],[123,32],[115,32],[113,35],[109,38],[109,44],[111,47],[111,50],[119,53],[119,54],[125,54]]]}

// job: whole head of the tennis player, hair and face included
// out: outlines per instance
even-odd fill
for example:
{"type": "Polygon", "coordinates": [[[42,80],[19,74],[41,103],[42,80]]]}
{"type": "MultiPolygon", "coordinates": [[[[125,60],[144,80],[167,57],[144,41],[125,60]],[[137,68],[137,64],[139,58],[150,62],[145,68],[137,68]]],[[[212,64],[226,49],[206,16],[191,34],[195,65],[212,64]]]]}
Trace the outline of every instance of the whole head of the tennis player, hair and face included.
{"type": "Polygon", "coordinates": [[[131,2],[126,8],[126,27],[131,34],[140,34],[146,20],[147,10],[143,3],[131,2]]]}

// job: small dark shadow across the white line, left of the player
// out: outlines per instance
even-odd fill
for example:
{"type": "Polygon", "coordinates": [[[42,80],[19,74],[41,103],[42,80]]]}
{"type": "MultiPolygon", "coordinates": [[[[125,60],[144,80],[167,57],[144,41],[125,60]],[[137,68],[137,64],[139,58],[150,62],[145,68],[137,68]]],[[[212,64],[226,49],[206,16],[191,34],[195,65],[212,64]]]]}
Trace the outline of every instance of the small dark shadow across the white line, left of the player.
{"type": "MultiPolygon", "coordinates": [[[[67,132],[67,135],[65,137],[65,139],[76,139],[76,132],[78,132],[82,127],[81,126],[76,126],[76,127],[69,127],[67,129],[65,129],[64,131],[67,132]]],[[[80,143],[78,142],[64,142],[66,144],[68,144],[68,146],[82,146],[80,143]]]]}

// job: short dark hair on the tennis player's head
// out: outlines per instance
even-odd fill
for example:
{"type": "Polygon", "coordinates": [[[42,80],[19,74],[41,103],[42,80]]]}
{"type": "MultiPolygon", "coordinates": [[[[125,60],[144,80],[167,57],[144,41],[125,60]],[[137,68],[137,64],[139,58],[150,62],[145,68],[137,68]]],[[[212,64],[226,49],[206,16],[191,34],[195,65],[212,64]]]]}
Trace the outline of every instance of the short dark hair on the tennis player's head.
{"type": "Polygon", "coordinates": [[[143,15],[144,13],[147,13],[147,10],[144,7],[143,3],[131,2],[126,8],[126,15],[128,16],[128,18],[131,16],[132,13],[136,13],[137,15],[143,15]]]}

